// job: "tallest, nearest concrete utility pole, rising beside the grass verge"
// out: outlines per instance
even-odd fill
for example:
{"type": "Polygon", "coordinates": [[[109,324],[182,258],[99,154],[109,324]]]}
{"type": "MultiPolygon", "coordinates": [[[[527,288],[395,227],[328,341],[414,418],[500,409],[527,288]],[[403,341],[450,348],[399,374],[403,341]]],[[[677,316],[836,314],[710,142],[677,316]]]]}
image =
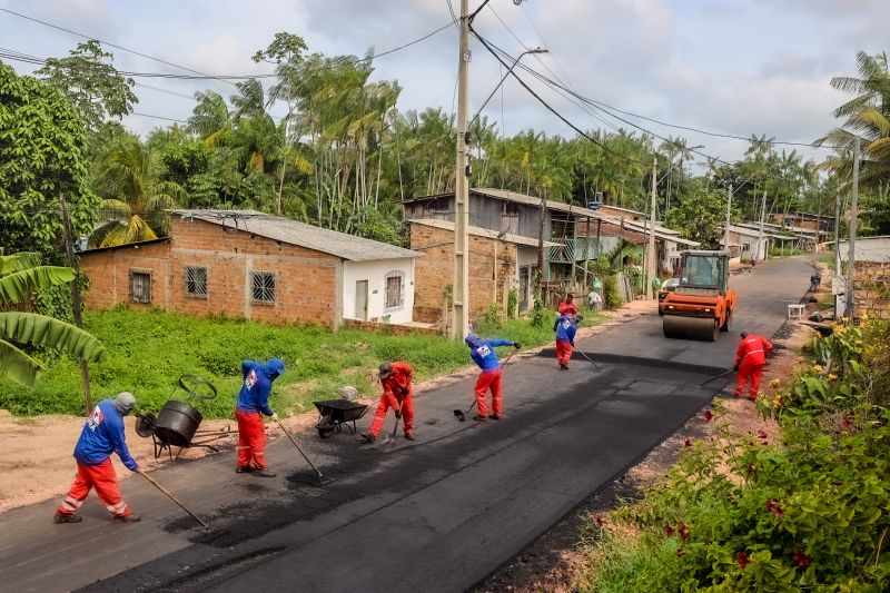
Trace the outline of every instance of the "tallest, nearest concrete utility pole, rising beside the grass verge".
{"type": "Polygon", "coordinates": [[[461,0],[461,37],[457,56],[457,162],[454,184],[454,323],[452,337],[469,333],[469,0],[461,0]]]}

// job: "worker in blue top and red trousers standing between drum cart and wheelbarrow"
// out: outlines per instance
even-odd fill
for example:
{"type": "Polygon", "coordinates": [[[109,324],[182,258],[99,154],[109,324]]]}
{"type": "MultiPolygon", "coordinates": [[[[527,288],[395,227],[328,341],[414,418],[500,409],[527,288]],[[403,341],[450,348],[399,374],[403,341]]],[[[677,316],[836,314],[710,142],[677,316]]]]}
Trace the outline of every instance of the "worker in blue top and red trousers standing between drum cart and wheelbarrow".
{"type": "Polygon", "coordinates": [[[238,421],[238,464],[237,473],[254,472],[261,477],[275,477],[275,472],[266,464],[266,425],[263,416],[277,421],[278,414],[269,407],[271,383],[284,375],[285,364],[280,358],[268,363],[241,362],[244,383],[238,393],[235,418],[238,421]]]}

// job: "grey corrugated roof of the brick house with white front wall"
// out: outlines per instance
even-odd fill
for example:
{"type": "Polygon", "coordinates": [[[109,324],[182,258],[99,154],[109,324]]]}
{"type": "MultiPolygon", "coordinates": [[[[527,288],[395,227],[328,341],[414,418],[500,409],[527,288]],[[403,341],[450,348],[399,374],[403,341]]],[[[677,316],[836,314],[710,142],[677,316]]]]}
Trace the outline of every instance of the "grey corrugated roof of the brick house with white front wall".
{"type": "Polygon", "coordinates": [[[324,254],[335,255],[349,261],[373,261],[375,259],[398,259],[421,257],[412,251],[386,243],[356,237],[336,230],[298,223],[281,216],[257,210],[171,210],[182,218],[204,220],[222,227],[243,230],[279,240],[289,245],[306,247],[324,254]]]}

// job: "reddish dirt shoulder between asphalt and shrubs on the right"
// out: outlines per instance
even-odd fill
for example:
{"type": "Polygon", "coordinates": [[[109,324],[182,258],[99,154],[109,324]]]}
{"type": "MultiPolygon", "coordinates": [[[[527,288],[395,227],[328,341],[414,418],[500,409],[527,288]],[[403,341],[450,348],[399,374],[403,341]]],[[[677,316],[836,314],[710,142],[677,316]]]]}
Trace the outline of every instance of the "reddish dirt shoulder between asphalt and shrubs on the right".
{"type": "MultiPolygon", "coordinates": [[[[773,339],[777,352],[763,373],[762,395],[772,396],[774,387],[770,384],[773,379],[784,382],[793,374],[798,365],[798,352],[812,335],[813,330],[801,324],[787,324],[780,329],[773,339]]],[[[755,435],[759,431],[764,431],[770,439],[779,433],[775,422],[764,419],[758,414],[752,402],[728,395],[718,396],[714,403],[725,408],[723,419],[729,423],[730,432],[755,435]]],[[[590,575],[590,571],[595,570],[596,565],[596,559],[591,557],[590,548],[584,542],[584,525],[596,515],[606,515],[622,504],[642,497],[645,490],[654,485],[676,463],[686,438],[711,438],[713,435],[714,424],[705,422],[702,414],[696,414],[652,449],[642,462],[583,501],[547,533],[479,583],[474,591],[575,591],[581,573],[590,575]]]]}

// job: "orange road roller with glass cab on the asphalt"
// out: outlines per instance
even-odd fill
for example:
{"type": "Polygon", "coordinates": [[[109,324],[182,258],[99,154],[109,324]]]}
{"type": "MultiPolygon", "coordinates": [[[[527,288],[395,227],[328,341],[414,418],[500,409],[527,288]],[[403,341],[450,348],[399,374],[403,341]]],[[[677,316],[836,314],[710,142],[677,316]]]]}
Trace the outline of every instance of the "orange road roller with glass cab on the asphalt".
{"type": "Polygon", "coordinates": [[[738,303],[730,289],[728,251],[683,251],[680,283],[664,297],[664,336],[716,340],[732,327],[738,303]]]}

